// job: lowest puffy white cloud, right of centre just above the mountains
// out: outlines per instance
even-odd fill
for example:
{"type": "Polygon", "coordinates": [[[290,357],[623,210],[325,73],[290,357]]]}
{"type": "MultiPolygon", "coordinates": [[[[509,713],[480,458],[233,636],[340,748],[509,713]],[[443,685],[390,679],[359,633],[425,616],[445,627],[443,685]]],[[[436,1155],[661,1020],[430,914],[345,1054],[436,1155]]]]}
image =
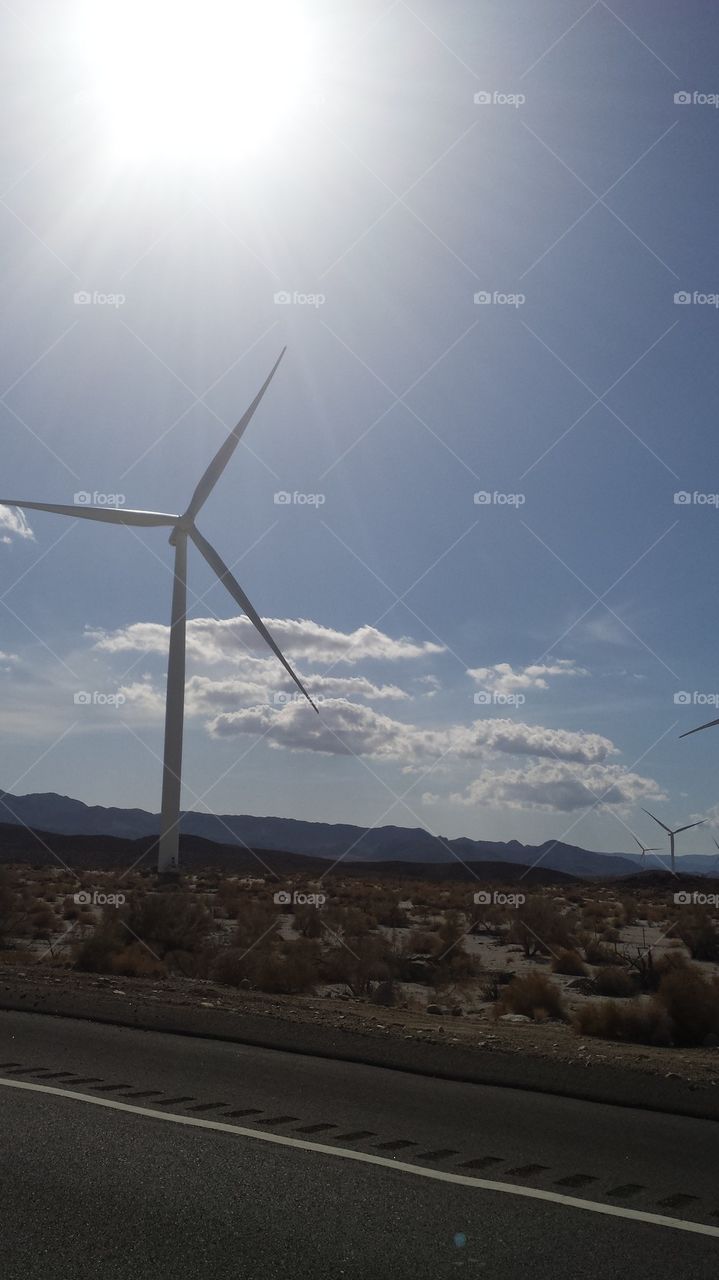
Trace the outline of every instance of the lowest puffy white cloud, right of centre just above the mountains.
{"type": "MultiPolygon", "coordinates": [[[[587,809],[599,800],[603,805],[624,808],[637,800],[664,799],[664,792],[652,778],[644,778],[619,764],[583,765],[548,760],[528,769],[485,773],[466,791],[449,796],[453,804],[559,813],[587,809]]],[[[431,804],[439,796],[426,794],[423,800],[431,804]]]]}

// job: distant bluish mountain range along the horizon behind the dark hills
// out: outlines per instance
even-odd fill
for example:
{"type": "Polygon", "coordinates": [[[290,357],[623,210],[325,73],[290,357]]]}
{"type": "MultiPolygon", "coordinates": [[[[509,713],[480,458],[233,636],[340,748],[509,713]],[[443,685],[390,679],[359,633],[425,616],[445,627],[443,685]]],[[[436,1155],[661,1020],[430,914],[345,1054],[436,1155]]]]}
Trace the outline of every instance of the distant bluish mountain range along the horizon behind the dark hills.
{"type": "MultiPolygon", "coordinates": [[[[101,836],[123,841],[156,836],[160,815],[146,809],[119,809],[86,805],[82,800],[55,792],[15,796],[0,791],[0,823],[19,824],[58,836],[101,836]]],[[[432,836],[422,827],[357,827],[349,823],[304,822],[297,818],[257,818],[251,814],[210,814],[188,812],[182,815],[186,840],[194,837],[225,849],[233,845],[253,850],[283,850],[287,854],[320,859],[348,859],[356,863],[452,864],[512,863],[541,865],[567,876],[620,877],[641,868],[638,854],[594,852],[562,841],[523,845],[518,840],[449,840],[432,836]]],[[[3,835],[0,831],[0,850],[3,835]]],[[[647,867],[651,867],[651,858],[647,867]]],[[[659,865],[654,863],[654,865],[659,865]]],[[[664,865],[664,863],[663,863],[664,865]]],[[[688,854],[677,858],[677,869],[690,874],[719,873],[716,855],[688,854]]]]}

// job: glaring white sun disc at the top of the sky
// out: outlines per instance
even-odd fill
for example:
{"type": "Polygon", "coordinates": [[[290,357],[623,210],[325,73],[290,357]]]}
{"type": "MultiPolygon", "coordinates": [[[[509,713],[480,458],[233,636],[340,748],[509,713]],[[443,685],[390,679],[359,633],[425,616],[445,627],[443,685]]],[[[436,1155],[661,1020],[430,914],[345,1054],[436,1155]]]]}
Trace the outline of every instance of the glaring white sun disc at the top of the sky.
{"type": "Polygon", "coordinates": [[[312,31],[288,0],[93,0],[81,42],[113,154],[233,161],[311,93],[312,31]]]}

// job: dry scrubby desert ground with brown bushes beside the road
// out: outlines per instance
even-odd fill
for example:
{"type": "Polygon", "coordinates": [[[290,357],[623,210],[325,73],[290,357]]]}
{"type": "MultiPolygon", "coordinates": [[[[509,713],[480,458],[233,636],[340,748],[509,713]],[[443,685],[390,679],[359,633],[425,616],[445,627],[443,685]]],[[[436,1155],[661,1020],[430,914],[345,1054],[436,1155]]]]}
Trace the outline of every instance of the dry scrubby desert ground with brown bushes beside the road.
{"type": "Polygon", "coordinates": [[[372,876],[0,872],[0,974],[719,1083],[719,897],[372,876]]]}

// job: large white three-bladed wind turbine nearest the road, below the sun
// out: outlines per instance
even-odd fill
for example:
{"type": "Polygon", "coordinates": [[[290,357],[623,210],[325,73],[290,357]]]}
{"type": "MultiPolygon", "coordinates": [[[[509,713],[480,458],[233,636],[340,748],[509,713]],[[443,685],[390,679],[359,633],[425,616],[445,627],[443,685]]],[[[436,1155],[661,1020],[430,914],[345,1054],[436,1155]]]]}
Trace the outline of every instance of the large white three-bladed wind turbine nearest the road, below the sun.
{"type": "Polygon", "coordinates": [[[228,566],[220,559],[217,552],[202,536],[194,524],[201,507],[206,503],[229,460],[232,458],[242,435],[260,404],[267,387],[270,385],[278,365],[285,353],[285,347],[267,378],[262,383],[249,408],[233,428],[224,444],[217,449],[210,466],[201,476],[189,506],[182,516],[173,516],[159,511],[132,511],[127,507],[84,507],[84,506],[58,506],[46,502],[18,502],[15,498],[0,498],[3,507],[22,507],[29,511],[50,511],[56,516],[72,516],[79,520],[100,520],[106,525],[136,525],[139,527],[165,526],[171,529],[170,545],[175,549],[174,580],[173,580],[173,607],[170,621],[170,648],[168,655],[168,691],[165,699],[165,749],[162,758],[162,808],[160,817],[160,847],[157,854],[157,870],[160,874],[173,874],[178,869],[179,847],[179,817],[180,817],[180,777],[182,777],[182,732],[184,721],[184,659],[186,659],[186,620],[187,620],[187,540],[194,543],[197,550],[205,557],[209,566],[217,575],[229,594],[244,611],[249,621],[255,625],[262,639],[276,654],[283,667],[292,676],[294,684],[304,694],[304,698],[319,714],[315,703],[304,689],[299,677],[294,673],[289,662],[275,644],[267,631],[262,618],[251,604],[242,590],[239,582],[233,577],[228,566]]]}

